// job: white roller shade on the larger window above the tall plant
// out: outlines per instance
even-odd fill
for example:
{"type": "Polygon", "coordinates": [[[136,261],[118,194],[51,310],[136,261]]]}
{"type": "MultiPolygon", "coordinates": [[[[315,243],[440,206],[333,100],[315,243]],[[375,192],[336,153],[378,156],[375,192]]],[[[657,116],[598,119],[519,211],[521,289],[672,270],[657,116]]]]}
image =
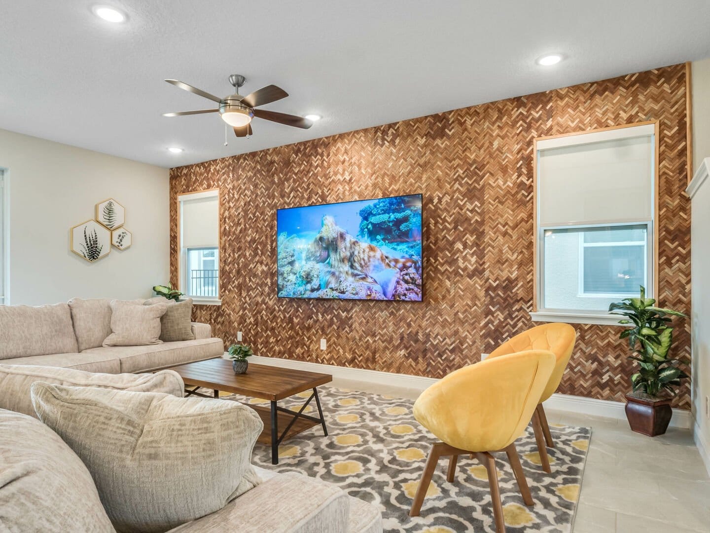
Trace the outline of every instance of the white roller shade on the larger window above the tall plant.
{"type": "Polygon", "coordinates": [[[537,144],[540,227],[652,219],[652,125],[537,144]]]}

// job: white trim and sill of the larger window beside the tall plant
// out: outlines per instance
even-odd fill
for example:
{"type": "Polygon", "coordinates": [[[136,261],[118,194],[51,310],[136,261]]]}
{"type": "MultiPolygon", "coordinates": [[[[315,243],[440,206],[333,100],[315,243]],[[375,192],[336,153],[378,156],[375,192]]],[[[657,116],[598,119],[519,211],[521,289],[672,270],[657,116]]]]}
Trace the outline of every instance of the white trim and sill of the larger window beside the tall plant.
{"type": "MultiPolygon", "coordinates": [[[[658,246],[656,235],[655,235],[655,218],[657,216],[657,195],[658,195],[658,136],[657,136],[657,122],[647,123],[647,124],[628,124],[618,127],[611,127],[602,129],[600,131],[579,131],[574,134],[567,134],[562,136],[552,136],[550,138],[535,139],[534,146],[534,156],[535,156],[535,190],[533,191],[535,196],[535,227],[537,228],[537,235],[535,235],[535,274],[537,279],[534,279],[536,291],[535,291],[535,302],[534,305],[537,307],[536,311],[530,312],[530,319],[533,322],[565,322],[572,324],[602,324],[602,325],[617,325],[618,321],[623,317],[618,315],[611,315],[605,311],[599,311],[595,313],[594,311],[581,311],[581,310],[569,310],[569,309],[547,309],[540,306],[540,301],[544,301],[545,297],[545,269],[543,265],[545,264],[545,230],[555,230],[561,228],[569,227],[594,227],[594,226],[613,226],[613,225],[631,225],[631,224],[648,224],[647,230],[647,271],[646,280],[654,280],[650,284],[646,284],[646,294],[648,297],[652,298],[655,293],[655,263],[656,263],[656,248],[658,246]],[[579,136],[584,136],[584,141],[579,140],[579,136]],[[540,195],[537,193],[537,176],[539,176],[540,165],[540,151],[547,149],[561,148],[562,146],[574,146],[574,145],[584,145],[591,144],[600,141],[618,140],[618,139],[628,139],[632,137],[640,136],[650,136],[652,139],[651,145],[651,171],[652,171],[652,183],[651,183],[651,218],[652,220],[634,220],[634,219],[624,219],[618,218],[615,220],[608,221],[597,221],[595,224],[579,224],[574,221],[564,222],[562,224],[557,224],[552,226],[540,226],[540,195]]],[[[620,298],[621,299],[621,298],[620,298]]],[[[624,326],[626,327],[626,326],[624,326]]]]}

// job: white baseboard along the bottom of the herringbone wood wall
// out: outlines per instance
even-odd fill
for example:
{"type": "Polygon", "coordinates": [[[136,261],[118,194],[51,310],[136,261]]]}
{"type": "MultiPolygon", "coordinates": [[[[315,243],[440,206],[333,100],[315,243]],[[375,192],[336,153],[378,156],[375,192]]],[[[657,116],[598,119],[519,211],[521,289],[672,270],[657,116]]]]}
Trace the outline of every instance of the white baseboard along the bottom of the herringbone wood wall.
{"type": "MultiPolygon", "coordinates": [[[[294,370],[310,370],[311,372],[324,372],[337,379],[347,379],[349,381],[362,381],[373,384],[387,385],[388,387],[400,387],[403,389],[415,389],[423,391],[431,384],[438,381],[433,377],[413,376],[409,374],[393,374],[391,372],[380,372],[378,370],[365,370],[362,368],[338,367],[335,365],[323,365],[318,362],[296,361],[290,359],[280,359],[278,357],[263,357],[253,355],[250,361],[258,365],[274,365],[294,370]]],[[[593,416],[604,416],[606,418],[626,420],[626,413],[623,402],[612,402],[611,400],[600,400],[572,394],[552,394],[552,397],[545,402],[545,409],[554,411],[567,411],[576,414],[589,414],[593,416]]],[[[692,428],[692,415],[690,411],[683,409],[673,409],[673,418],[670,426],[674,428],[692,428]]]]}

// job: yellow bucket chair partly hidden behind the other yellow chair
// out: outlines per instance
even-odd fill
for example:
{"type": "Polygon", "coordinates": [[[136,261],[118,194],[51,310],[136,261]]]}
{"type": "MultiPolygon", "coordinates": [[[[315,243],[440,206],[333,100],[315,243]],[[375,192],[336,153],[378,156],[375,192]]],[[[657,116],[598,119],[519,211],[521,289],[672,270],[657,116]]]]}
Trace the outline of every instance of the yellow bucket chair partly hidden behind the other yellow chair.
{"type": "Polygon", "coordinates": [[[532,414],[532,429],[535,431],[535,441],[537,442],[537,451],[540,453],[540,463],[542,470],[550,473],[550,458],[547,456],[547,447],[555,448],[555,443],[552,441],[550,434],[550,426],[547,424],[547,416],[545,409],[542,409],[542,402],[545,402],[552,393],[559,387],[559,382],[562,381],[564,369],[567,368],[569,357],[574,349],[574,341],[576,340],[576,332],[569,324],[550,323],[537,325],[535,328],[523,331],[515,337],[506,340],[488,355],[498,357],[509,353],[520,352],[523,350],[550,350],[555,354],[557,362],[555,370],[552,370],[550,381],[547,382],[547,387],[542,392],[540,403],[535,408],[535,413],[532,414]]]}

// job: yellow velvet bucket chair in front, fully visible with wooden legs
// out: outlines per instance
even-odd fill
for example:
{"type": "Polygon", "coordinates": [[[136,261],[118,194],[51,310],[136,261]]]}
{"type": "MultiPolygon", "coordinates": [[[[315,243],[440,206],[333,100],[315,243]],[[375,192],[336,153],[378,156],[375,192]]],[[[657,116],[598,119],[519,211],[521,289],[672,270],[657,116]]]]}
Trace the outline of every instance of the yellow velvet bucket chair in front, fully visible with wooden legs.
{"type": "Polygon", "coordinates": [[[460,455],[475,456],[488,471],[496,530],[505,532],[495,451],[505,451],[525,505],[532,496],[520,465],[515,439],[528,426],[555,368],[549,350],[528,350],[463,367],[426,389],[414,404],[414,417],[440,442],[434,443],[409,515],[419,516],[440,457],[450,456],[452,483],[460,455]]]}

